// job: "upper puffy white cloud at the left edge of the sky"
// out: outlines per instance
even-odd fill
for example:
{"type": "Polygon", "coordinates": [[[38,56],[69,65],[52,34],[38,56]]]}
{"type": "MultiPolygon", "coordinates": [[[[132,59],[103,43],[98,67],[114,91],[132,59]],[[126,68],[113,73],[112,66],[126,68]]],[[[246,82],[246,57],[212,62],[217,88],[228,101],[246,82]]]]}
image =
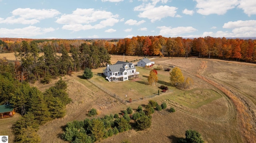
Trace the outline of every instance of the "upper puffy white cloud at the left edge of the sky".
{"type": "Polygon", "coordinates": [[[0,23],[4,24],[36,24],[40,20],[46,18],[54,18],[58,16],[60,12],[54,9],[30,9],[30,8],[17,8],[13,10],[12,16],[7,17],[6,19],[0,18],[0,23]]]}

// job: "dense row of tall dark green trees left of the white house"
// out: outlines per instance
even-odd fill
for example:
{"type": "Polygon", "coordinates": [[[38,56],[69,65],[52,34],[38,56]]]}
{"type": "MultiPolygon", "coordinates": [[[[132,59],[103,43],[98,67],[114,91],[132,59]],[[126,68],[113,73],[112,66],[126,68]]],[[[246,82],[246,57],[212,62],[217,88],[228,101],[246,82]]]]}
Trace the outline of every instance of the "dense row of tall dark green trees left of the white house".
{"type": "Polygon", "coordinates": [[[42,83],[49,83],[51,78],[71,74],[81,69],[96,69],[110,63],[110,55],[103,46],[82,43],[78,48],[70,45],[67,51],[64,45],[60,45],[61,55],[57,55],[52,45],[44,45],[41,49],[43,56],[39,56],[39,47],[36,41],[22,41],[20,49],[15,53],[15,73],[18,81],[41,79],[42,83]],[[69,53],[70,52],[70,53],[69,53]]]}

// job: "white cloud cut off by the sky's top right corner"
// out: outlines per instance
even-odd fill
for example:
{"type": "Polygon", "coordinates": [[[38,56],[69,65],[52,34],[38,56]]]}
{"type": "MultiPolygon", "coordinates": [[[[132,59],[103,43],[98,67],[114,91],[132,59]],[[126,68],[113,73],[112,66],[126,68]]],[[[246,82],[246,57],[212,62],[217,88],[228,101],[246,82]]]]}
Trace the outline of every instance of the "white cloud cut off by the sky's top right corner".
{"type": "Polygon", "coordinates": [[[244,10],[248,16],[256,14],[256,1],[255,0],[240,0],[238,8],[244,10]]]}

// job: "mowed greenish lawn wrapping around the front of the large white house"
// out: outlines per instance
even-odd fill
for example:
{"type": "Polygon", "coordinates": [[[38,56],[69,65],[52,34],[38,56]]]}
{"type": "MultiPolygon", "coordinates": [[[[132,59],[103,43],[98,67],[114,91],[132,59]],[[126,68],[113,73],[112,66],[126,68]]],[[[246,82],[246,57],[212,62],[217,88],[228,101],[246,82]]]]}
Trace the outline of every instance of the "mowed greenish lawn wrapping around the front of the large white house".
{"type": "Polygon", "coordinates": [[[157,98],[164,98],[163,100],[173,100],[174,102],[189,108],[199,108],[202,105],[208,104],[222,97],[214,90],[192,89],[184,91],[173,87],[170,85],[170,72],[164,71],[163,69],[157,70],[158,82],[156,85],[152,86],[148,83],[148,76],[149,72],[152,69],[156,69],[156,67],[156,65],[150,68],[136,67],[136,71],[140,72],[139,77],[124,82],[109,82],[105,79],[105,76],[99,76],[106,67],[92,69],[94,76],[91,80],[100,85],[101,88],[109,90],[123,100],[129,100],[130,98],[132,100],[140,100],[146,98],[147,96],[158,94],[159,90],[160,96],[164,96],[156,96],[157,98]],[[161,85],[168,86],[169,89],[166,93],[161,92],[162,90],[159,88],[161,85]],[[127,98],[125,95],[127,95],[127,98]]]}

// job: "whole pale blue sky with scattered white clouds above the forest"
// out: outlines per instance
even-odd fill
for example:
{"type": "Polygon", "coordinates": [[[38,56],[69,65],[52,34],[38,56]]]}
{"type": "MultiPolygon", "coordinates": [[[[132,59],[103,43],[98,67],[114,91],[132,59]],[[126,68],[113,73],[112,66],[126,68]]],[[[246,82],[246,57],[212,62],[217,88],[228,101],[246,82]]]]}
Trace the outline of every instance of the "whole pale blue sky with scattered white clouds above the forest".
{"type": "Polygon", "coordinates": [[[256,37],[256,0],[0,0],[0,37],[256,37]]]}

